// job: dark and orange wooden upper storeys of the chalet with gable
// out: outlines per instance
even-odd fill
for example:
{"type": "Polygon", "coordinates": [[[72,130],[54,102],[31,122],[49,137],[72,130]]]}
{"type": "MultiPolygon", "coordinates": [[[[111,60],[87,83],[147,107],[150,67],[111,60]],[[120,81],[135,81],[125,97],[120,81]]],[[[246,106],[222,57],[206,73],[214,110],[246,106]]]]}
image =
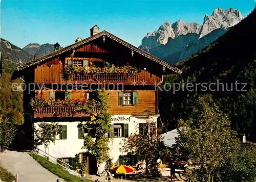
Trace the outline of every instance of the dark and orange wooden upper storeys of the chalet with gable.
{"type": "MultiPolygon", "coordinates": [[[[33,122],[44,120],[84,121],[90,118],[82,112],[75,116],[63,113],[72,113],[78,106],[54,106],[44,107],[35,111],[31,110],[30,100],[40,97],[50,99],[49,93],[55,90],[55,86],[75,84],[76,89],[70,91],[69,99],[89,99],[88,93],[93,90],[89,87],[82,89],[83,84],[121,86],[114,89],[105,88],[110,95],[110,113],[114,115],[139,115],[145,111],[158,114],[158,90],[155,85],[162,82],[165,73],[181,73],[181,70],[168,63],[146,53],[145,51],[115,37],[109,32],[102,31],[86,39],[62,49],[56,49],[54,53],[42,56],[28,63],[20,65],[12,75],[12,79],[24,76],[25,85],[35,84],[35,90],[24,91],[25,128],[31,149],[33,137],[33,122]],[[70,66],[111,68],[133,67],[138,72],[127,76],[127,73],[97,72],[97,73],[73,73],[67,79],[65,74],[70,66]],[[54,86],[53,86],[54,85],[54,86]],[[120,96],[121,95],[121,96],[120,96]],[[136,99],[135,99],[136,98],[136,99]],[[121,101],[122,102],[121,102],[121,101]],[[55,113],[59,113],[55,115],[55,113]],[[63,115],[62,115],[63,114],[63,115]],[[74,118],[74,119],[72,119],[74,118]]],[[[66,87],[65,87],[66,86],[66,87]]],[[[62,91],[63,91],[62,90],[62,91]]],[[[60,88],[55,91],[61,91],[60,88]]]]}

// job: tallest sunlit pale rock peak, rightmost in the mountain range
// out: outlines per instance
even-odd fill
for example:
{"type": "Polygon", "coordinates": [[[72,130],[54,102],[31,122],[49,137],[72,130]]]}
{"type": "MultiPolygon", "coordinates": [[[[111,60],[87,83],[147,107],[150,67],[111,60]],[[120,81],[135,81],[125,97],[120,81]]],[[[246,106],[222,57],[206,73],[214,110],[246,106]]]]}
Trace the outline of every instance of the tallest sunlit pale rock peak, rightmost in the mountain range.
{"type": "Polygon", "coordinates": [[[211,16],[205,15],[200,38],[216,29],[227,29],[239,23],[244,17],[239,10],[217,8],[211,16]]]}

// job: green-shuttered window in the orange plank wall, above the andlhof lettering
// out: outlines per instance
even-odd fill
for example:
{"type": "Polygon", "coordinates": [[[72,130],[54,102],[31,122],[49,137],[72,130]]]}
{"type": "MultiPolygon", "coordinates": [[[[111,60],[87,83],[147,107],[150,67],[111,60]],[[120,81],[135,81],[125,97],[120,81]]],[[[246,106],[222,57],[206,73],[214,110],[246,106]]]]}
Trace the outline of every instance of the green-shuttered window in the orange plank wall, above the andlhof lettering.
{"type": "Polygon", "coordinates": [[[138,92],[118,92],[118,105],[137,105],[138,92]]]}

